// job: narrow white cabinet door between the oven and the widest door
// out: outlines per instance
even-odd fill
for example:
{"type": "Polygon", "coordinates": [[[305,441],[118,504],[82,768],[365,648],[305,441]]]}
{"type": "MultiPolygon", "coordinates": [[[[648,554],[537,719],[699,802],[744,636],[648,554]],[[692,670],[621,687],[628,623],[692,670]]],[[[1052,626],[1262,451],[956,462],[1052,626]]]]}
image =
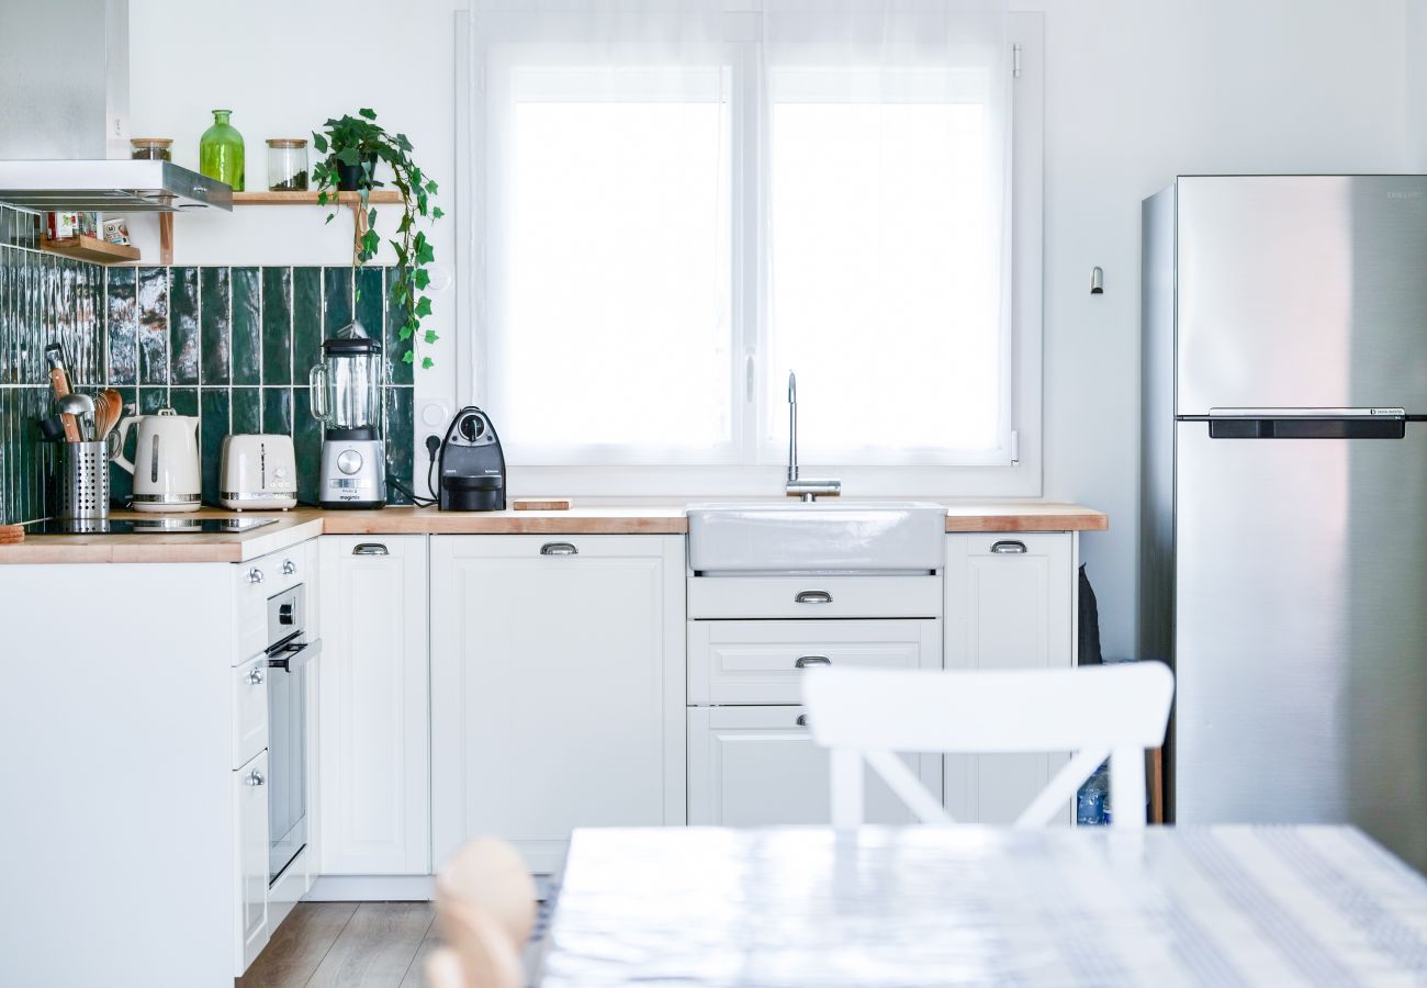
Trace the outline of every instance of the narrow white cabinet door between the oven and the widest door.
{"type": "Polygon", "coordinates": [[[427,537],[321,541],[318,871],[428,875],[427,537]]]}

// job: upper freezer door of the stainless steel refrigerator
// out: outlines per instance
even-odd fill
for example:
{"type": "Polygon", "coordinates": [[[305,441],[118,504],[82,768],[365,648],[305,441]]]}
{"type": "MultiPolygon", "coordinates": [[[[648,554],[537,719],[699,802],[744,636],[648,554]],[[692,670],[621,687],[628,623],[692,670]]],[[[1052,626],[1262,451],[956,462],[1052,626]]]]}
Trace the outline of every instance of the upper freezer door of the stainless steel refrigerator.
{"type": "Polygon", "coordinates": [[[1177,183],[1176,414],[1427,411],[1427,177],[1177,183]]]}

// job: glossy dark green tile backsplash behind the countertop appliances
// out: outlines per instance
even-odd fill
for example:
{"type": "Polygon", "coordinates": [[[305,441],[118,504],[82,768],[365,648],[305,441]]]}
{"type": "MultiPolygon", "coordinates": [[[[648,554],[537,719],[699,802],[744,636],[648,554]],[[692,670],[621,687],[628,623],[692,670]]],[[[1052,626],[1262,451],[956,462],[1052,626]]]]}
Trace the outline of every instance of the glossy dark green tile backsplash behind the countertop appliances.
{"type": "MultiPolygon", "coordinates": [[[[217,503],[228,433],[291,433],[298,494],[315,494],[321,427],[311,417],[307,371],[327,331],[352,313],[400,353],[400,313],[387,268],[100,267],[33,248],[26,214],[0,207],[0,523],[49,514],[54,450],[36,420],[49,414],[44,347],[64,346],[74,385],[110,385],[141,413],[168,405],[201,418],[204,500],[217,503]],[[19,217],[19,218],[17,218],[19,217]]],[[[412,481],[411,367],[388,361],[388,474],[412,481]]],[[[133,441],[130,441],[130,445],[133,441]]],[[[131,451],[130,451],[131,453],[131,451]]],[[[113,494],[128,474],[110,473],[113,494]]],[[[394,504],[405,498],[394,490],[394,504]]]]}

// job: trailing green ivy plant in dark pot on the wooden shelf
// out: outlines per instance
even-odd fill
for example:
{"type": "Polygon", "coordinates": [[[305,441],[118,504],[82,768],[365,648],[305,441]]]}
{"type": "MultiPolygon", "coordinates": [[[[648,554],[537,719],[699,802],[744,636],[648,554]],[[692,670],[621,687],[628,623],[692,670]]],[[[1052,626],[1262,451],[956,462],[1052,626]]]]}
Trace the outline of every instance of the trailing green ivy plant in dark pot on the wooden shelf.
{"type": "MultiPolygon", "coordinates": [[[[425,294],[431,284],[428,266],[435,260],[435,251],[427,234],[417,228],[420,220],[435,221],[444,214],[432,198],[437,183],[422,174],[411,160],[411,141],[405,134],[391,134],[377,123],[375,110],[362,107],[357,116],[330,119],[321,133],[313,133],[313,147],[324,156],[313,167],[313,181],[317,184],[317,201],[335,206],[338,191],[358,194],[358,216],[365,217],[365,230],[360,231],[352,264],[361,267],[377,256],[381,237],[377,234],[377,210],[371,206],[371,190],[384,187],[377,180],[377,167],[385,163],[391,168],[391,184],[401,194],[402,216],[397,224],[395,237],[388,240],[397,253],[395,281],[391,287],[391,304],[405,314],[398,333],[407,346],[402,358],[410,364],[415,360],[415,337],[421,331],[421,320],[431,314],[431,298],[425,294]]],[[[327,214],[331,223],[335,210],[327,214]]],[[[437,341],[435,330],[422,331],[422,341],[437,341]]],[[[431,367],[431,357],[422,357],[421,366],[431,367]]]]}

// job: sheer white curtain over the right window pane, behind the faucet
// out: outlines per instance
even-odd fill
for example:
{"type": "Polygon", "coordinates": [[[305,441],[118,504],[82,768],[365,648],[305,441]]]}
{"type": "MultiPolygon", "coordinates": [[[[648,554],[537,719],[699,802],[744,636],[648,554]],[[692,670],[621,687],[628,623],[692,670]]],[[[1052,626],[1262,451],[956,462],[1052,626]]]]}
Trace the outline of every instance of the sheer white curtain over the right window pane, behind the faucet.
{"type": "MultiPolygon", "coordinates": [[[[768,354],[811,463],[1005,463],[1010,46],[940,0],[763,0],[768,354]],[[838,414],[815,410],[836,408],[838,414]]],[[[771,373],[763,448],[786,428],[771,373]]]]}

